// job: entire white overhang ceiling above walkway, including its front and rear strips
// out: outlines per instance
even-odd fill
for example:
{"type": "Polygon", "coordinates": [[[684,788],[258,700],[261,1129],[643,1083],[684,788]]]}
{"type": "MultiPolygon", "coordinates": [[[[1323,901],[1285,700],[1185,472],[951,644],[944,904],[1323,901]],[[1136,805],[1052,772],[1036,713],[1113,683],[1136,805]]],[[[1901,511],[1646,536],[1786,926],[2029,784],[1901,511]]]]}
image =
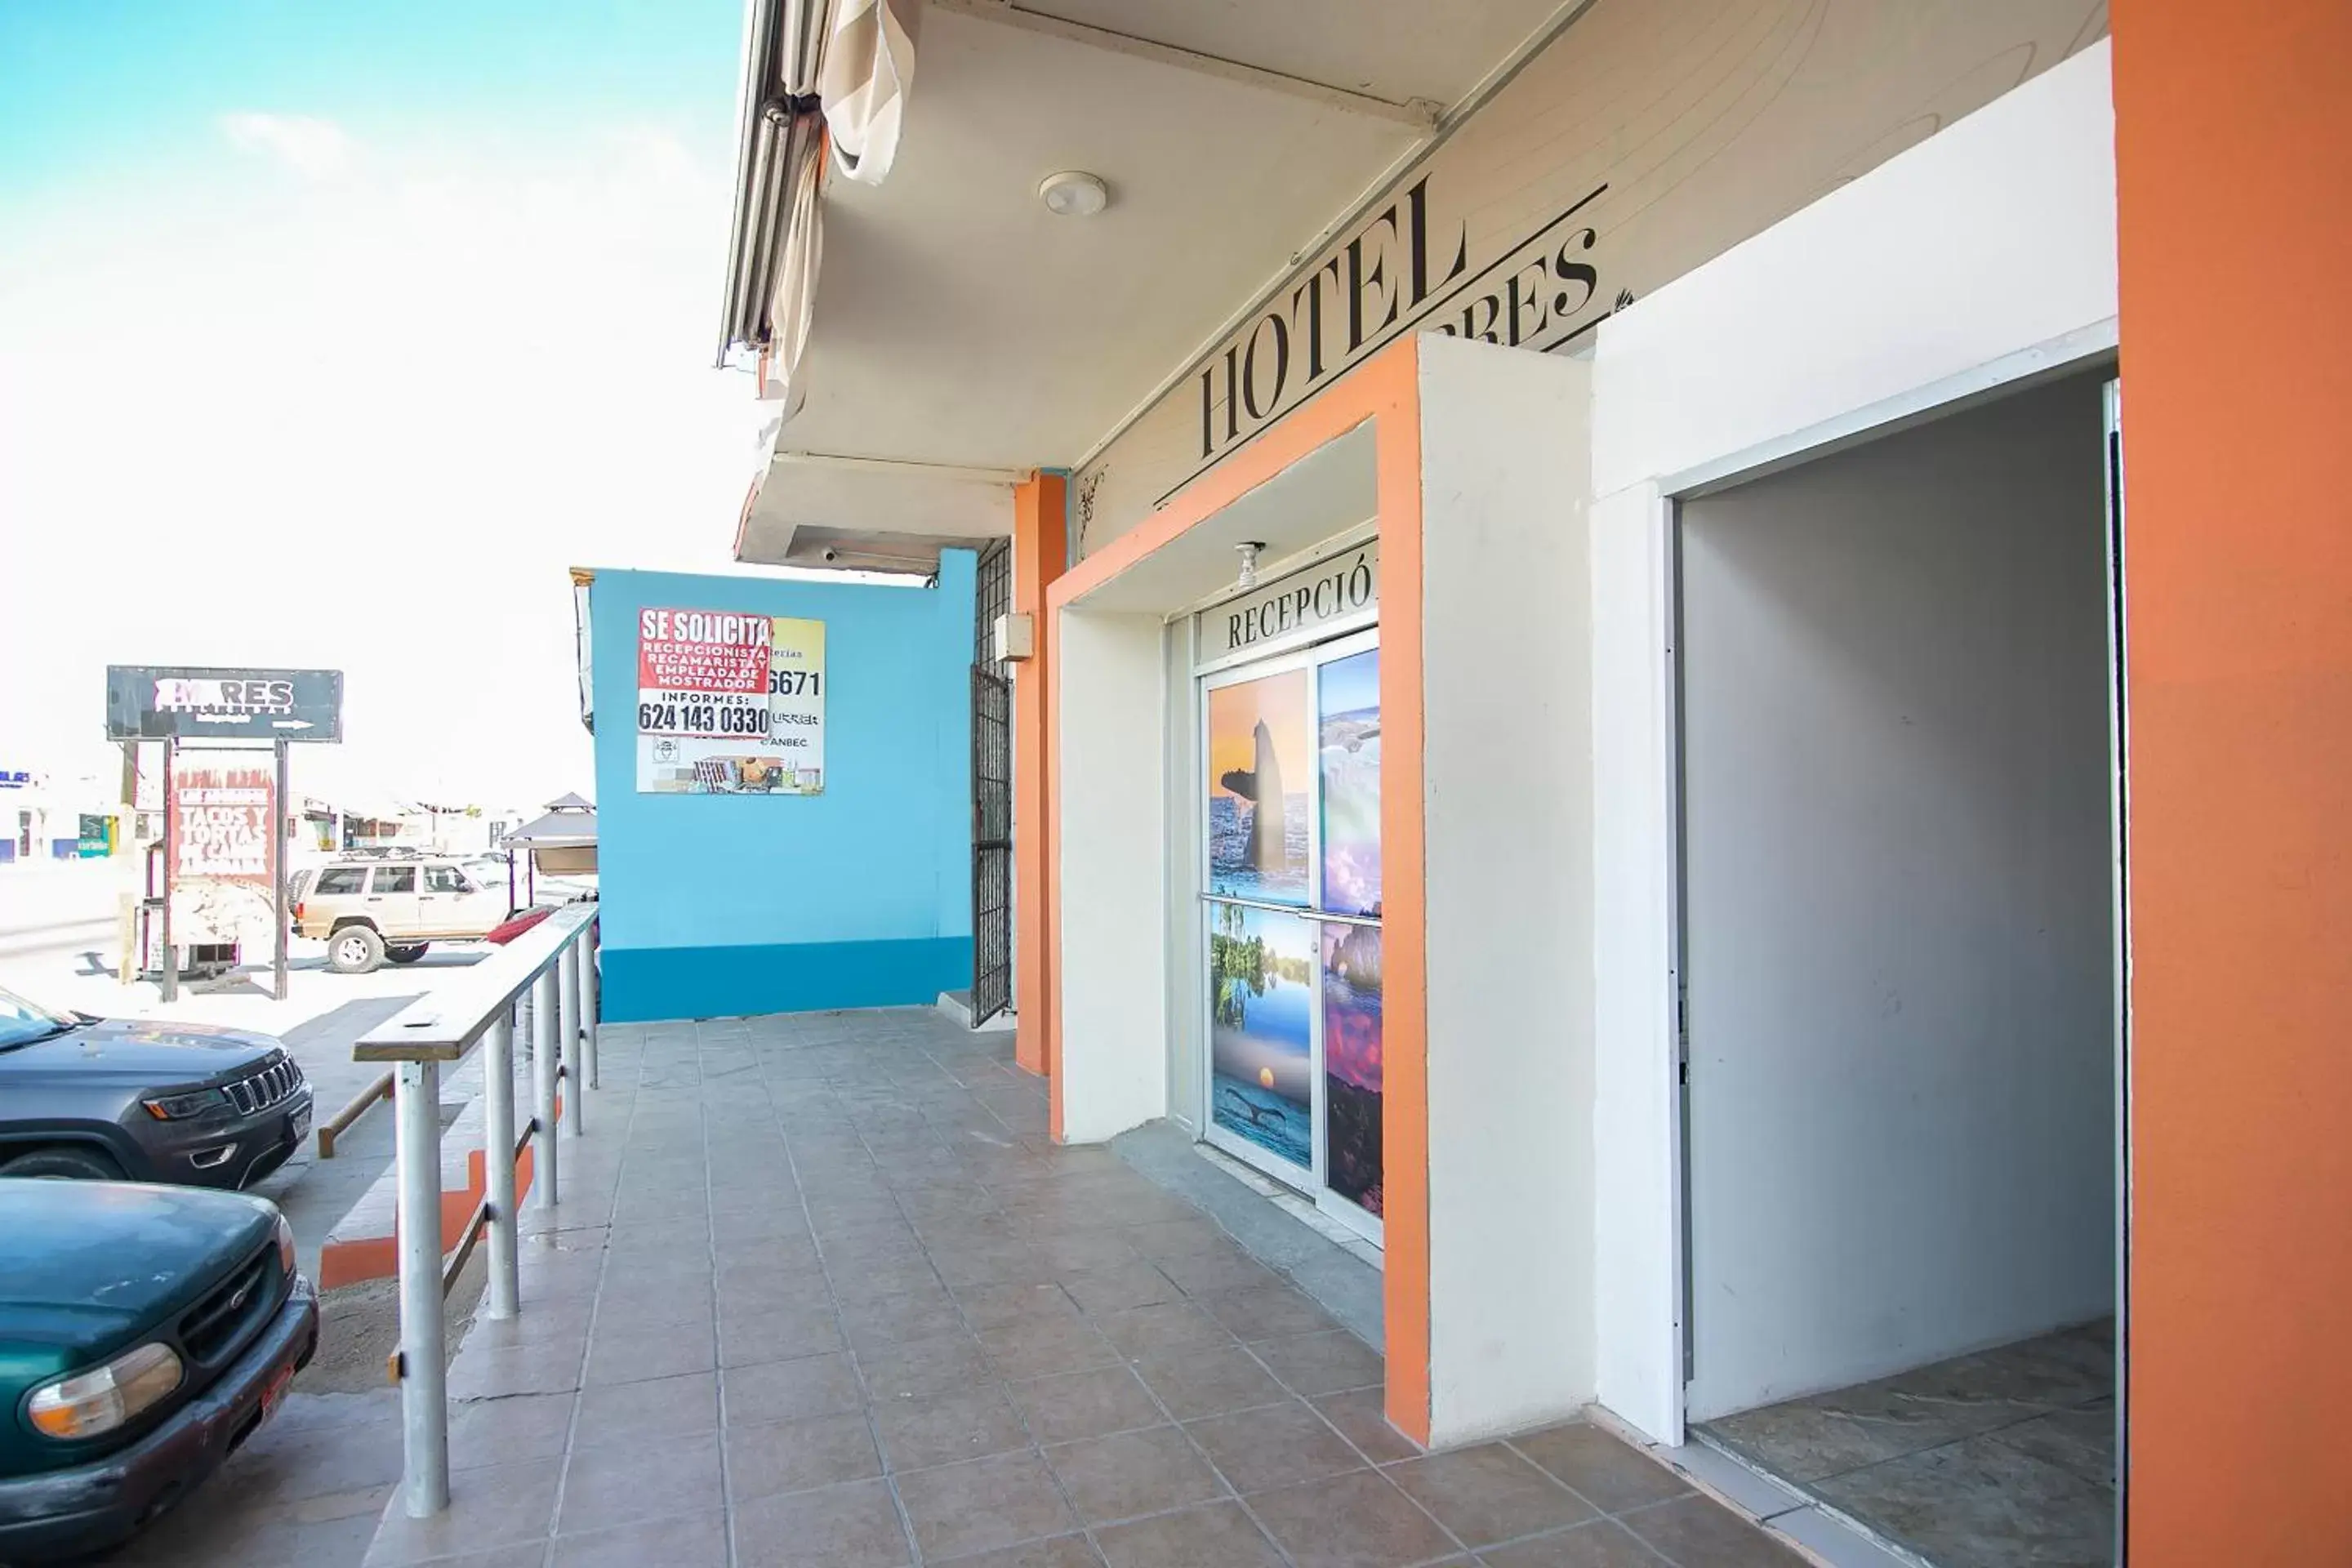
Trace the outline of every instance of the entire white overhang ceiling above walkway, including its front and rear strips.
{"type": "MultiPolygon", "coordinates": [[[[1451,103],[1559,0],[1023,0],[1327,87],[1451,103]]],[[[882,186],[826,183],[826,235],[786,454],[1070,465],[1145,402],[1423,136],[1392,118],[929,7],[882,186]],[[1110,209],[1056,219],[1084,169],[1110,209]]],[[[779,463],[741,559],[802,527],[971,536],[955,482],[779,463]],[[946,489],[941,487],[946,484],[946,489]]],[[[993,529],[1000,531],[1000,529],[993,529]]]]}

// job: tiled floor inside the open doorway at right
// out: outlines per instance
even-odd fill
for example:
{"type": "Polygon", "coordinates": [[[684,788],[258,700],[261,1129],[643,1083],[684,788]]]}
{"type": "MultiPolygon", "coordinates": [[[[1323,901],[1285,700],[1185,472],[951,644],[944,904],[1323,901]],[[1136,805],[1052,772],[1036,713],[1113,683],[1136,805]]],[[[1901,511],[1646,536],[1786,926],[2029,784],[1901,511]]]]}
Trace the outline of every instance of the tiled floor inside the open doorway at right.
{"type": "Polygon", "coordinates": [[[2114,1561],[2114,1319],[1703,1432],[1945,1568],[2114,1561]]]}

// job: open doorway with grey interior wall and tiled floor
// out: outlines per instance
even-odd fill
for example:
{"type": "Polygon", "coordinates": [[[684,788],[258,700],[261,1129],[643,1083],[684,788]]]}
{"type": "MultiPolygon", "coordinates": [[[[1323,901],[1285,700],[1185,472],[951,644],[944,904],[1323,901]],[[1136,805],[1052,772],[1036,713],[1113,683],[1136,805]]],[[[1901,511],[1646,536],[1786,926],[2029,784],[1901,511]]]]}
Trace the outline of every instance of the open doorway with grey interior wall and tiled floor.
{"type": "Polygon", "coordinates": [[[1938,1568],[2117,1561],[2107,433],[2079,374],[1677,515],[1686,1420],[1938,1568]]]}

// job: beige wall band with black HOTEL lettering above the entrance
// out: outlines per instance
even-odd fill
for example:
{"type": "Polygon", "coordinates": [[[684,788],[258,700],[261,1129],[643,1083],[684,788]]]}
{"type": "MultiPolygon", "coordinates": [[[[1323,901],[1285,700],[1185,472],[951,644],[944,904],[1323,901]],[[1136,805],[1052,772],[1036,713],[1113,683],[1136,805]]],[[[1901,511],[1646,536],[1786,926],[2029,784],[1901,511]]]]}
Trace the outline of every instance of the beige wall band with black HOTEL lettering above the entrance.
{"type": "Polygon", "coordinates": [[[1080,468],[1080,552],[1399,336],[1538,353],[1590,341],[1637,296],[2105,31],[2079,0],[1832,9],[1590,0],[1080,468]]]}

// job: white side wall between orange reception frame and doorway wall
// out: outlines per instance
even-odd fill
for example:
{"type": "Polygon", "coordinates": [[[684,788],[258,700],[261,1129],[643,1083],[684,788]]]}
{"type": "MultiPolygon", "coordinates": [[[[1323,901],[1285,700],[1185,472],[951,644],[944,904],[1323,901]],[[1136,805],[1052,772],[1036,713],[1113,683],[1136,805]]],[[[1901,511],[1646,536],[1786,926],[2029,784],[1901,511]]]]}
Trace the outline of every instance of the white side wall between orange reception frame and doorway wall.
{"type": "Polygon", "coordinates": [[[1588,367],[1421,341],[1430,1436],[1592,1399],[1588,367]]]}

